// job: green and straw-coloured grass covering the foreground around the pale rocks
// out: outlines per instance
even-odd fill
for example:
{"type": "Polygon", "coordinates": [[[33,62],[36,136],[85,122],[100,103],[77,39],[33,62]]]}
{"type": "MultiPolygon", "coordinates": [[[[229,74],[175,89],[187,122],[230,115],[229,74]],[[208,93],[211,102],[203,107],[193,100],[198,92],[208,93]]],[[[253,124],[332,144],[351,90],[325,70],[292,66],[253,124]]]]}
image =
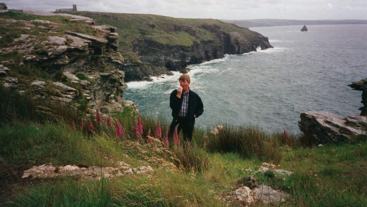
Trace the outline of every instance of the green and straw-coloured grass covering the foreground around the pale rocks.
{"type": "MultiPolygon", "coordinates": [[[[166,148],[155,135],[157,122],[151,117],[141,117],[141,138],[133,135],[138,114],[128,107],[106,116],[121,124],[124,135],[118,137],[106,117],[97,123],[70,107],[35,101],[3,87],[0,96],[7,97],[0,103],[1,206],[226,206],[224,197],[240,185],[260,184],[290,193],[280,206],[367,205],[366,139],[307,147],[297,141],[302,135],[224,124],[215,135],[210,129],[196,129],[192,144],[180,137],[179,145],[166,148]],[[89,124],[94,129],[88,130],[89,124]],[[152,144],[145,138],[149,131],[152,144]],[[100,180],[20,178],[34,165],[117,167],[113,161],[118,160],[132,167],[150,165],[155,172],[100,180]],[[293,174],[258,173],[254,183],[249,170],[256,171],[262,162],[279,164],[275,169],[293,174]]],[[[160,124],[164,136],[169,123],[160,117],[160,124]]]]}

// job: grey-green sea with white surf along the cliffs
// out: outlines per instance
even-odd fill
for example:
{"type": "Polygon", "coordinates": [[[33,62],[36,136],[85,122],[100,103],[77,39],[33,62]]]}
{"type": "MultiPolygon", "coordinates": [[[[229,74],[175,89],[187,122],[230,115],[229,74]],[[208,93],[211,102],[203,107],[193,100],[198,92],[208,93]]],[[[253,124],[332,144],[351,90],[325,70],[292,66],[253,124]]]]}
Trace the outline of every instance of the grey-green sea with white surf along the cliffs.
{"type": "MultiPolygon", "coordinates": [[[[367,78],[367,25],[303,25],[250,28],[269,38],[272,49],[189,65],[190,90],[204,113],[196,126],[255,125],[266,132],[299,133],[300,113],[359,115],[361,91],[351,82],[367,78]]],[[[169,97],[178,77],[127,82],[124,93],[143,115],[171,120],[169,97]]]]}

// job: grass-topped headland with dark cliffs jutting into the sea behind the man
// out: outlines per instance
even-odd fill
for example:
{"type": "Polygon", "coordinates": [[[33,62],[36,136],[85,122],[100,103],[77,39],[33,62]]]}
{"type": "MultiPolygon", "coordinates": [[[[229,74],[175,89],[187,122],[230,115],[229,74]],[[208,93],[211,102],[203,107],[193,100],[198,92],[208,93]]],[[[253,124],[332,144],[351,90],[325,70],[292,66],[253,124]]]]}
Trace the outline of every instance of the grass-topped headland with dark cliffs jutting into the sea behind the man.
{"type": "Polygon", "coordinates": [[[217,19],[181,19],[145,14],[77,12],[97,24],[118,28],[119,51],[126,59],[120,70],[125,81],[185,72],[190,64],[272,47],[257,32],[217,19]],[[110,21],[113,19],[113,22],[110,21]]]}

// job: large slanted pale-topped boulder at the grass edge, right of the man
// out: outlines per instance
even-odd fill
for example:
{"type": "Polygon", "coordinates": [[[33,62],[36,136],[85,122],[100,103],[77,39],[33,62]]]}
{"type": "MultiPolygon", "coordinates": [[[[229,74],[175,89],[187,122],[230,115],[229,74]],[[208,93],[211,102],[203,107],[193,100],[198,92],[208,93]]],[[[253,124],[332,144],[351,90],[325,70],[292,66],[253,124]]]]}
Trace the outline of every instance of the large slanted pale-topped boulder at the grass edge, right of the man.
{"type": "Polygon", "coordinates": [[[323,111],[301,113],[299,129],[316,143],[348,142],[354,135],[366,134],[363,117],[344,119],[323,111]]]}

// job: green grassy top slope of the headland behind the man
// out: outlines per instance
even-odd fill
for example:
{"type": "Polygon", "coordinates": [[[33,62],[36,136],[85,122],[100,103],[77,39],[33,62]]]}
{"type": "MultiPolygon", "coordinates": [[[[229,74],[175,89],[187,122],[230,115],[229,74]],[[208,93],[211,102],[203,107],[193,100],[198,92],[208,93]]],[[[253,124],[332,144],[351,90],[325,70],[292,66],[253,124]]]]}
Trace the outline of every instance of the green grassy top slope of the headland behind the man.
{"type": "Polygon", "coordinates": [[[73,12],[85,17],[97,19],[98,25],[117,27],[120,35],[120,50],[131,50],[136,38],[153,39],[162,44],[191,46],[193,41],[218,41],[217,36],[205,28],[205,25],[218,25],[218,31],[238,32],[248,39],[257,36],[255,32],[235,24],[218,19],[173,18],[153,14],[121,14],[99,12],[73,12]]]}

